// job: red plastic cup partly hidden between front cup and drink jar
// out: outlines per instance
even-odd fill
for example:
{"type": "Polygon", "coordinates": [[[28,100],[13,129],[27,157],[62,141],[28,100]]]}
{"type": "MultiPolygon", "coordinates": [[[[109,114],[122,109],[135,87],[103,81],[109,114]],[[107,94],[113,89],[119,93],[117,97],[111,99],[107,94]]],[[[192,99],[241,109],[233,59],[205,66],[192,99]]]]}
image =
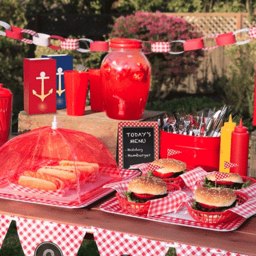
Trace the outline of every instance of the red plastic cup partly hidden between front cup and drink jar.
{"type": "Polygon", "coordinates": [[[89,69],[90,108],[93,111],[105,111],[101,85],[101,70],[89,69]]]}

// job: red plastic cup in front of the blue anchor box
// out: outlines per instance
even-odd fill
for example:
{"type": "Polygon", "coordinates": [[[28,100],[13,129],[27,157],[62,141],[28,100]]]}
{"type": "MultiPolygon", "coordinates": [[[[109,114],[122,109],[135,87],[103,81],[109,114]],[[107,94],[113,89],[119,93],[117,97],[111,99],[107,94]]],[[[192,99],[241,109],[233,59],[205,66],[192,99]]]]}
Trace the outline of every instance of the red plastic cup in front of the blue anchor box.
{"type": "Polygon", "coordinates": [[[84,115],[88,81],[88,71],[64,71],[68,115],[84,115]]]}

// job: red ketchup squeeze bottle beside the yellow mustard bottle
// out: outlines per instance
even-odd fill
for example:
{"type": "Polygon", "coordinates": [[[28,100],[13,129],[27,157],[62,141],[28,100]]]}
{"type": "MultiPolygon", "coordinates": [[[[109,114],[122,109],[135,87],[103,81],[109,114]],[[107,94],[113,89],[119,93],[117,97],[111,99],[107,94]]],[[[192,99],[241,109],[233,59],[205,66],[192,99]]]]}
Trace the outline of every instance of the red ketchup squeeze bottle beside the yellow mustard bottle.
{"type": "Polygon", "coordinates": [[[230,172],[247,176],[249,152],[249,132],[243,126],[242,119],[239,126],[236,126],[231,135],[230,163],[238,166],[231,167],[230,172]]]}

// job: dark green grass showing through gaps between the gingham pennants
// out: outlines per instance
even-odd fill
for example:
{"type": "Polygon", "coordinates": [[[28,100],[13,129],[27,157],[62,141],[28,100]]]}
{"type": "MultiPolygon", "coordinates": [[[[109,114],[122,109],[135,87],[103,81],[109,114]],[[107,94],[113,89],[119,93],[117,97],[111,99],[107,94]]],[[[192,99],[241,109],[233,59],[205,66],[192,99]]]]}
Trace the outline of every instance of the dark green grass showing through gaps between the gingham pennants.
{"type": "MultiPolygon", "coordinates": [[[[19,241],[15,221],[11,221],[10,228],[0,249],[0,256],[25,256],[19,241]]],[[[100,256],[96,242],[91,240],[83,240],[77,256],[100,256]]],[[[176,256],[175,249],[170,248],[166,256],[176,256]]]]}

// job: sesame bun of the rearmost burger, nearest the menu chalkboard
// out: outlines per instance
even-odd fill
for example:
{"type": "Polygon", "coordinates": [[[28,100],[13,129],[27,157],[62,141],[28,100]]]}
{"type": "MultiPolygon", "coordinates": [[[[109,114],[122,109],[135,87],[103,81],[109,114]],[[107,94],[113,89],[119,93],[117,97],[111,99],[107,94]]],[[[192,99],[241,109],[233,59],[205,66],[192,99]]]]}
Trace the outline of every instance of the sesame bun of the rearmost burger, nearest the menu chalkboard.
{"type": "Polygon", "coordinates": [[[169,172],[182,172],[187,168],[187,164],[172,158],[160,158],[152,162],[156,166],[162,168],[158,169],[158,172],[162,174],[168,174],[169,172]]]}

